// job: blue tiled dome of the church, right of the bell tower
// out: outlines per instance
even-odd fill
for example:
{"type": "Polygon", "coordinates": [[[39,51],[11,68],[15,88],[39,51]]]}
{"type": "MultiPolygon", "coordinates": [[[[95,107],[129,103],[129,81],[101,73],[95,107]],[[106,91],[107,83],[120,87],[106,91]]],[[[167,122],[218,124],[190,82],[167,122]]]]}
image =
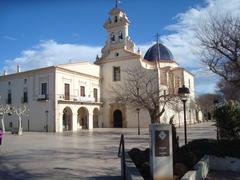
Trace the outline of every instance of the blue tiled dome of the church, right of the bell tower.
{"type": "Polygon", "coordinates": [[[161,43],[156,43],[152,47],[150,47],[147,50],[147,52],[144,56],[144,59],[151,61],[151,62],[154,62],[157,60],[161,60],[161,61],[173,61],[174,60],[171,51],[161,43]]]}

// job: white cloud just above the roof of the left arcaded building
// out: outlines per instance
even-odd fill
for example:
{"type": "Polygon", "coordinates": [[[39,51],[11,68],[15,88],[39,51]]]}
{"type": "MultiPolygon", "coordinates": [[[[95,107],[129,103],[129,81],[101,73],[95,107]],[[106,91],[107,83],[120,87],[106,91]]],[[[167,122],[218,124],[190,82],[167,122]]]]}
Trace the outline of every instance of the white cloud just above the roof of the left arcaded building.
{"type": "Polygon", "coordinates": [[[79,44],[60,44],[54,40],[41,41],[32,49],[22,51],[15,59],[6,60],[5,69],[15,72],[16,66],[23,70],[68,63],[69,61],[94,61],[101,47],[79,44]]]}

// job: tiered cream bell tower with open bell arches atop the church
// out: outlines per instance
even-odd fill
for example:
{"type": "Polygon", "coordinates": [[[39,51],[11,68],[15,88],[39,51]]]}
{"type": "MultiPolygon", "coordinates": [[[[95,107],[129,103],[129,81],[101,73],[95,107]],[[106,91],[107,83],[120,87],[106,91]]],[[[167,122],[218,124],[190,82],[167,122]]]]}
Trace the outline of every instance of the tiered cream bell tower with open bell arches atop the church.
{"type": "Polygon", "coordinates": [[[103,27],[107,30],[108,36],[105,46],[102,48],[102,58],[106,57],[112,50],[124,49],[134,52],[135,44],[128,35],[129,20],[125,12],[115,8],[109,12],[109,17],[103,27]]]}

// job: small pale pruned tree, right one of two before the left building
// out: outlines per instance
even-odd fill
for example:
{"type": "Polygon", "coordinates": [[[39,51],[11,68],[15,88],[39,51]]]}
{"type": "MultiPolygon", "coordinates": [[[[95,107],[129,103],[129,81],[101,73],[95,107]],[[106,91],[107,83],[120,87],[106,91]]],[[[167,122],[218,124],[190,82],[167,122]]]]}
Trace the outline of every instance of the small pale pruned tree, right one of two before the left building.
{"type": "Polygon", "coordinates": [[[13,107],[13,112],[18,116],[19,127],[18,127],[18,135],[22,135],[22,117],[29,116],[29,108],[27,106],[13,107]]]}

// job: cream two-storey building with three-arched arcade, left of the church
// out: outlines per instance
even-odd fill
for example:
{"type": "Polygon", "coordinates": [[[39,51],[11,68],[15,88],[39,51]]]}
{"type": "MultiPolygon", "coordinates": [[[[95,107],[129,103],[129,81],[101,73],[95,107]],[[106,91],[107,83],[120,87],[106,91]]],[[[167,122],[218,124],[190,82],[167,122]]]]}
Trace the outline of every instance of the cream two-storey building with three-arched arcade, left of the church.
{"type": "MultiPolygon", "coordinates": [[[[0,77],[0,101],[1,104],[29,107],[30,115],[23,117],[25,131],[93,129],[101,126],[98,124],[99,81],[99,67],[88,62],[18,72],[0,77]],[[81,94],[81,87],[84,87],[84,94],[81,94]],[[24,91],[27,92],[25,102],[24,91]]],[[[6,129],[17,128],[16,115],[6,116],[5,125],[6,129]]]]}

